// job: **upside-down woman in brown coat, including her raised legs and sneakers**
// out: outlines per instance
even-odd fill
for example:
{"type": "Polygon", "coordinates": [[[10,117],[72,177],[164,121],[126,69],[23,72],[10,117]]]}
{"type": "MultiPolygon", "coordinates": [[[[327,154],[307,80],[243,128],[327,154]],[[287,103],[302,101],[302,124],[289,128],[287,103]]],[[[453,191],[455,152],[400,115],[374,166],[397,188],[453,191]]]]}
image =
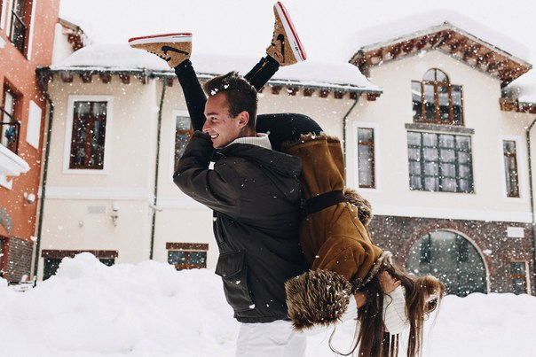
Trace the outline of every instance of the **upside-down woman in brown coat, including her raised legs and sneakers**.
{"type": "MultiPolygon", "coordinates": [[[[288,16],[281,16],[281,11],[285,12],[282,4],[276,4],[274,11],[276,26],[267,56],[245,75],[257,90],[279,66],[305,58],[292,23],[288,16]],[[277,41],[281,34],[289,42],[299,44],[291,46],[297,50],[293,56],[281,53],[283,49],[277,41]]],[[[174,68],[192,127],[201,130],[207,98],[189,60],[191,34],[138,37],[130,39],[130,45],[158,55],[174,68]]],[[[301,183],[307,203],[300,235],[311,270],[291,279],[286,286],[289,317],[295,328],[330,325],[339,321],[344,312],[355,318],[358,309],[360,355],[394,351],[386,348],[392,346],[383,338],[386,326],[390,333],[396,333],[406,321],[412,337],[408,355],[418,354],[422,322],[443,296],[443,285],[435,278],[407,275],[391,263],[389,252],[374,245],[367,228],[370,206],[357,192],[344,187],[343,152],[338,139],[323,135],[314,120],[296,113],[258,115],[256,129],[270,133],[274,150],[296,155],[303,161],[301,183]],[[318,167],[321,169],[316,170],[318,167]],[[432,296],[437,298],[428,302],[432,296]],[[390,299],[392,303],[384,303],[390,299]]]]}

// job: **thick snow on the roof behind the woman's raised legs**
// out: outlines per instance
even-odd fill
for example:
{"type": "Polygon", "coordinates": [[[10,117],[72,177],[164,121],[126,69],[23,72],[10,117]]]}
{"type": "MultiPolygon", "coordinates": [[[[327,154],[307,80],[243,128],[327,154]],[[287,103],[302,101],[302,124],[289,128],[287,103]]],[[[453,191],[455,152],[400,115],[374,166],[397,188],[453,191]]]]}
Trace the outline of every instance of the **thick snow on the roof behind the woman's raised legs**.
{"type": "MultiPolygon", "coordinates": [[[[244,56],[221,56],[193,53],[193,66],[198,74],[218,75],[229,71],[247,74],[259,58],[244,56]]],[[[128,44],[96,43],[75,51],[65,60],[51,66],[52,71],[137,71],[150,70],[169,72],[172,70],[162,59],[146,52],[135,50],[128,44]]],[[[319,63],[305,61],[294,66],[280,67],[272,82],[297,83],[329,89],[380,92],[350,63],[319,63]]]]}

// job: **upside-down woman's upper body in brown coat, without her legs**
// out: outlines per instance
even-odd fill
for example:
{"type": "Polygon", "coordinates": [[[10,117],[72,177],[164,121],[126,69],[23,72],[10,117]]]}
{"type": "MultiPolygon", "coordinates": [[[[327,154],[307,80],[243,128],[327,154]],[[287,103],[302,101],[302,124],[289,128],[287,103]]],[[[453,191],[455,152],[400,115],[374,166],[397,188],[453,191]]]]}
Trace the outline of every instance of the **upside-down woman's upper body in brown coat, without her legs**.
{"type": "Polygon", "coordinates": [[[409,324],[407,355],[418,355],[423,322],[443,297],[443,284],[433,276],[407,274],[392,263],[390,252],[373,243],[370,204],[344,188],[337,138],[306,135],[285,144],[283,151],[302,159],[301,183],[308,203],[300,235],[311,270],[286,283],[288,315],[295,328],[335,324],[357,306],[359,327],[351,352],[359,346],[359,356],[396,355],[397,335],[409,324]]]}

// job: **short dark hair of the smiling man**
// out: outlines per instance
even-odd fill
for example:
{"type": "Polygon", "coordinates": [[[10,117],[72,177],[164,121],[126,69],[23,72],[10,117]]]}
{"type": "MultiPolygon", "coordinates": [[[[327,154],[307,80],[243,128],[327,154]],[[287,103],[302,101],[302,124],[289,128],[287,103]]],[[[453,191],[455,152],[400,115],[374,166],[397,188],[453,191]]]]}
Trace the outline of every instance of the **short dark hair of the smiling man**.
{"type": "Polygon", "coordinates": [[[235,118],[241,112],[249,113],[247,127],[255,130],[256,125],[256,89],[237,72],[229,72],[207,81],[203,89],[207,95],[215,96],[225,93],[229,104],[229,115],[235,118]]]}

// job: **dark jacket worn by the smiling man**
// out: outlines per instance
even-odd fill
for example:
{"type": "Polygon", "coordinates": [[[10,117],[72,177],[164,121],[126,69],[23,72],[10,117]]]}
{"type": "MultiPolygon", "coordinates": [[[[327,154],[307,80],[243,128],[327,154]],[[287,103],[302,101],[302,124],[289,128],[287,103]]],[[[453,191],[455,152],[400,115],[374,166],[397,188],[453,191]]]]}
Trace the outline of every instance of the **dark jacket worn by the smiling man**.
{"type": "Polygon", "coordinates": [[[214,152],[195,132],[173,180],[214,211],[216,274],[239,322],[288,319],[284,283],[307,268],[298,237],[300,159],[251,144],[214,152]]]}

